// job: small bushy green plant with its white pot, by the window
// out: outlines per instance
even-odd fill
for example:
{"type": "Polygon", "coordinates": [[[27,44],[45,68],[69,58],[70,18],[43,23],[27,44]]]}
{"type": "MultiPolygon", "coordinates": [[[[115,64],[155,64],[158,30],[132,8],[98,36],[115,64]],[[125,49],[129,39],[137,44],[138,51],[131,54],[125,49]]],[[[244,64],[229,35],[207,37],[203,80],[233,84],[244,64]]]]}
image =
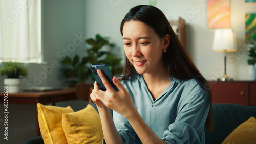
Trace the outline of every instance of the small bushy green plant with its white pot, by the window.
{"type": "Polygon", "coordinates": [[[7,62],[0,69],[0,75],[7,77],[4,79],[4,84],[8,86],[8,92],[17,93],[20,92],[22,77],[27,78],[28,76],[28,70],[20,66],[20,63],[7,62]]]}

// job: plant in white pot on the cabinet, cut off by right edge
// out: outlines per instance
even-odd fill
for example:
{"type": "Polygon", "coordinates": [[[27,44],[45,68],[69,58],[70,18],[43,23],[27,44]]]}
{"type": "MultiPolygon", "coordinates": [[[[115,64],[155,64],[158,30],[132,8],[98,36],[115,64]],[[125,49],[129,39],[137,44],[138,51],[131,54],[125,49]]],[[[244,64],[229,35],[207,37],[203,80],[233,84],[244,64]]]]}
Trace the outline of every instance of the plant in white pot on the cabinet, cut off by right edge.
{"type": "Polygon", "coordinates": [[[248,46],[248,69],[249,69],[249,80],[256,80],[256,70],[255,70],[255,63],[256,63],[256,42],[247,43],[248,46]]]}

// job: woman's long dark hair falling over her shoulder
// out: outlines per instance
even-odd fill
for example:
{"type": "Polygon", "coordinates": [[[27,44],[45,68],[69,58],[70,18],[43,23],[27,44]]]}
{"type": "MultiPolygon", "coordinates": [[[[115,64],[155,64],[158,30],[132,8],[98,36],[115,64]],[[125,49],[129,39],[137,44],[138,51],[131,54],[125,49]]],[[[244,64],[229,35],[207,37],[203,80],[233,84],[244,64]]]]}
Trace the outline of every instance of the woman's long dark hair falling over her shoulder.
{"type": "MultiPolygon", "coordinates": [[[[210,110],[205,122],[206,127],[212,131],[214,125],[212,123],[212,102],[211,88],[208,81],[202,76],[197,69],[186,50],[181,45],[176,34],[174,33],[169,21],[161,10],[154,6],[139,5],[132,8],[121,22],[120,31],[123,35],[123,25],[126,21],[135,20],[146,23],[155,33],[164,38],[166,34],[170,35],[170,44],[163,53],[163,62],[170,76],[177,79],[196,79],[202,87],[208,92],[210,99],[210,110]]],[[[137,72],[130,61],[125,59],[123,75],[121,79],[127,79],[130,76],[136,75],[137,72]]]]}

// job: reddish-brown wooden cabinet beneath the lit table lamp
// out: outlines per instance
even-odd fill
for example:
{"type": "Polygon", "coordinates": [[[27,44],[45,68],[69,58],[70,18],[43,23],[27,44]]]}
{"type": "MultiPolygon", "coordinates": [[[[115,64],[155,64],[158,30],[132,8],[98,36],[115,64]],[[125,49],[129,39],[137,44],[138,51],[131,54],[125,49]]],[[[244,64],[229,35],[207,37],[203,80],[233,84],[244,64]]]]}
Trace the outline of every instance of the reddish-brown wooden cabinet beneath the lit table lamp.
{"type": "Polygon", "coordinates": [[[210,82],[212,103],[234,103],[256,106],[255,81],[210,82]]]}

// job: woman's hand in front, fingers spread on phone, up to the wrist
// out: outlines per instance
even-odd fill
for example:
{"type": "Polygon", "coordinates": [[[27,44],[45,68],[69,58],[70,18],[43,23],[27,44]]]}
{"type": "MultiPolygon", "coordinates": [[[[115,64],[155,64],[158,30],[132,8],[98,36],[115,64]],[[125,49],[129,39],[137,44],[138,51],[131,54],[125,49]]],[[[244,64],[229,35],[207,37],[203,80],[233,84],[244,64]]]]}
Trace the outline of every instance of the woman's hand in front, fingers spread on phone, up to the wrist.
{"type": "Polygon", "coordinates": [[[121,82],[116,77],[113,77],[113,83],[119,89],[119,91],[115,91],[101,70],[97,70],[97,73],[106,87],[106,91],[100,90],[95,82],[93,92],[91,93],[92,101],[98,106],[106,106],[123,116],[132,114],[132,111],[136,110],[136,108],[129,92],[123,87],[121,82]]]}

